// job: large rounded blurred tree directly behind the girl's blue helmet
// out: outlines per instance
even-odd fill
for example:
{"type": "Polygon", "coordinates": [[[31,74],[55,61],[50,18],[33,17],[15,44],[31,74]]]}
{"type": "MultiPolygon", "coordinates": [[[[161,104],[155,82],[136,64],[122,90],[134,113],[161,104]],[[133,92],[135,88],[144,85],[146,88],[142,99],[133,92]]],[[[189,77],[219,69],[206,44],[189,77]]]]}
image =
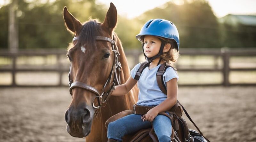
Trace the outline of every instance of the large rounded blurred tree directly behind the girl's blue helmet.
{"type": "Polygon", "coordinates": [[[123,25],[119,24],[117,27],[118,32],[122,30],[125,34],[134,33],[132,39],[128,41],[126,41],[126,36],[125,39],[122,38],[123,35],[121,36],[121,40],[124,41],[124,47],[137,48],[140,46],[140,43],[135,39],[135,35],[139,34],[140,28],[149,19],[157,18],[170,20],[177,26],[181,48],[221,47],[217,18],[213,14],[208,2],[203,0],[195,0],[192,2],[185,1],[183,5],[168,2],[164,4],[162,8],[154,8],[130,20],[133,21],[134,24],[131,22],[124,22],[122,23],[123,25]],[[132,28],[131,26],[136,26],[136,28],[132,28]]]}

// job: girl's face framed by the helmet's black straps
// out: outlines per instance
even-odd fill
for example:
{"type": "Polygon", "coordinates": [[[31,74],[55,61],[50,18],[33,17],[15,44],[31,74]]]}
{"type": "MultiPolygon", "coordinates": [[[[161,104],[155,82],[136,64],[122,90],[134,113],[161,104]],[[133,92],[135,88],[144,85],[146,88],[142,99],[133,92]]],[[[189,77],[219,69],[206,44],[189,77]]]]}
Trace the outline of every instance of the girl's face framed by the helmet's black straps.
{"type": "Polygon", "coordinates": [[[156,36],[145,35],[143,50],[146,56],[148,58],[156,56],[160,50],[161,43],[156,36]]]}

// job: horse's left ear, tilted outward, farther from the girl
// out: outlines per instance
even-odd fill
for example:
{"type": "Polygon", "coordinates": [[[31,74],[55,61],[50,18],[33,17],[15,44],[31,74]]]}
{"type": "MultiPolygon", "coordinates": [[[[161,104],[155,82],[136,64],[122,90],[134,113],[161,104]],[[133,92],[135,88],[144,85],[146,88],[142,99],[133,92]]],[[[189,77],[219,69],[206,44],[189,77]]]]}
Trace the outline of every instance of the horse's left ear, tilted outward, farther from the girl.
{"type": "Polygon", "coordinates": [[[63,18],[68,30],[76,34],[80,29],[80,27],[82,26],[82,24],[80,23],[79,20],[77,20],[72,14],[68,12],[68,9],[66,6],[63,9],[63,18]]]}

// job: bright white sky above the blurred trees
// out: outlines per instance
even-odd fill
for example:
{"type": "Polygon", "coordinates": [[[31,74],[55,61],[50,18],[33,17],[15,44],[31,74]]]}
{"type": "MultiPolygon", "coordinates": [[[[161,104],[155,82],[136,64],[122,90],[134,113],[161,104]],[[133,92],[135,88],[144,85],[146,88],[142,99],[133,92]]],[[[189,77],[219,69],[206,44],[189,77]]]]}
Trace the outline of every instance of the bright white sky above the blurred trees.
{"type": "MultiPolygon", "coordinates": [[[[161,7],[164,3],[173,1],[175,4],[182,5],[183,0],[96,0],[96,3],[110,5],[115,4],[118,14],[132,19],[143,12],[161,7]]],[[[187,0],[189,1],[189,0],[187,0]]],[[[218,18],[227,14],[237,15],[256,15],[256,0],[206,0],[218,18]]]]}

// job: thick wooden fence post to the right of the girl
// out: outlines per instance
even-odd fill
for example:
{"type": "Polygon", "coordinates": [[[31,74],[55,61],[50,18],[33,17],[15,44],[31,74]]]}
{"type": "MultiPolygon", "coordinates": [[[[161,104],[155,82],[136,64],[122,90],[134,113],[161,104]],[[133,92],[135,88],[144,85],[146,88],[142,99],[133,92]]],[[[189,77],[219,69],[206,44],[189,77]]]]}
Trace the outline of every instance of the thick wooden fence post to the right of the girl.
{"type": "Polygon", "coordinates": [[[221,48],[221,53],[222,53],[222,59],[223,59],[223,85],[224,86],[230,86],[229,83],[229,49],[228,47],[221,48]]]}

